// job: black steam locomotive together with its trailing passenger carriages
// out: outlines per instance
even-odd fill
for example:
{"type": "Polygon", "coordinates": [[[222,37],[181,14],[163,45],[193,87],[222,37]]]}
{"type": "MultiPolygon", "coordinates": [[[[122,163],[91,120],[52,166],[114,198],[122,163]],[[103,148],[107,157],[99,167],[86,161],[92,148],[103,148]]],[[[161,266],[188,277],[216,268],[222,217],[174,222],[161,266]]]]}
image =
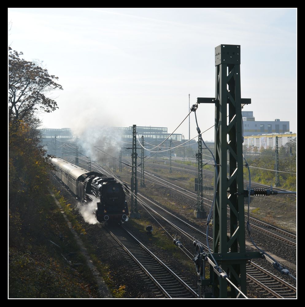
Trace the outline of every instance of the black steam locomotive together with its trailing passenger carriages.
{"type": "Polygon", "coordinates": [[[53,172],[81,201],[95,201],[99,222],[124,223],[129,215],[123,186],[112,177],[89,172],[61,158],[48,155],[53,172]]]}

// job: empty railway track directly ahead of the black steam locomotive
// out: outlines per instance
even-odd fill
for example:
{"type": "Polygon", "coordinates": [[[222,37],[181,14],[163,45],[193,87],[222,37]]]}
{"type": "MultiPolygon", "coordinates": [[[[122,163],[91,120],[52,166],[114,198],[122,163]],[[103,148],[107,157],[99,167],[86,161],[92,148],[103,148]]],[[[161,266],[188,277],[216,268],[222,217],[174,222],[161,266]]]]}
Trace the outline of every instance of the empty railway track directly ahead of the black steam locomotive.
{"type": "MultiPolygon", "coordinates": [[[[99,227],[102,227],[101,224],[99,227]]],[[[106,227],[106,230],[154,283],[156,288],[153,291],[157,297],[197,297],[190,286],[124,227],[106,227]]]]}

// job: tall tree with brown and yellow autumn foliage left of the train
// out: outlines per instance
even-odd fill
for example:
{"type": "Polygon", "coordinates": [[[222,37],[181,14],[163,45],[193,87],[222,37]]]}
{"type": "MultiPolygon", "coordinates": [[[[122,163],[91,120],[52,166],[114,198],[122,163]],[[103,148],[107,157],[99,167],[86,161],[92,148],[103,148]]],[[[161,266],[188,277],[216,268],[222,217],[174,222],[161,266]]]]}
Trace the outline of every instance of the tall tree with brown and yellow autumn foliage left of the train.
{"type": "Polygon", "coordinates": [[[48,187],[49,164],[35,115],[55,111],[57,103],[47,95],[62,90],[57,77],[20,55],[9,49],[9,231],[10,246],[17,248],[35,228],[40,199],[48,187]]]}

